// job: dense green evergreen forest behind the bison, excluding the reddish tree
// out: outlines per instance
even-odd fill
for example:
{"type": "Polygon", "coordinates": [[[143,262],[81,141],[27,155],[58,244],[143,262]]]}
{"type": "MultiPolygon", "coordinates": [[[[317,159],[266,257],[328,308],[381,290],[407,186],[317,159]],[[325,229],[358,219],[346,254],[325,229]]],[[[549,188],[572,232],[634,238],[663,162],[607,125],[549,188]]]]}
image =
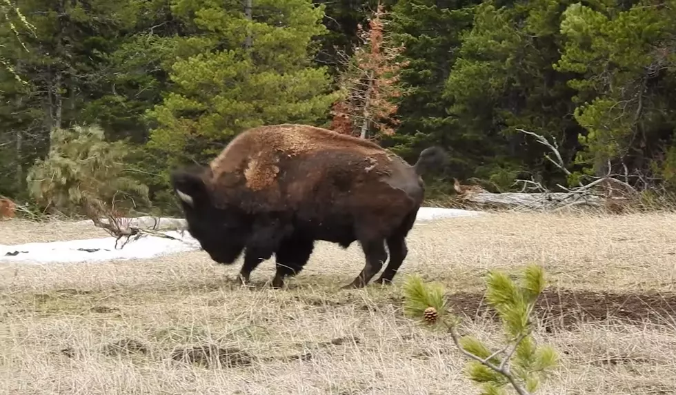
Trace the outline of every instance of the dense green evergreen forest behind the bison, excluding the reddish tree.
{"type": "MultiPolygon", "coordinates": [[[[153,204],[175,207],[168,170],[241,130],[331,125],[342,60],[377,3],[1,0],[0,194],[31,199],[26,176],[54,128],[99,125],[142,152],[126,167],[153,204]]],[[[444,146],[446,185],[556,189],[613,172],[676,188],[675,0],[381,3],[405,48],[395,133],[368,134],[382,145],[409,161],[444,146]],[[555,139],[572,175],[519,128],[555,139]]]]}

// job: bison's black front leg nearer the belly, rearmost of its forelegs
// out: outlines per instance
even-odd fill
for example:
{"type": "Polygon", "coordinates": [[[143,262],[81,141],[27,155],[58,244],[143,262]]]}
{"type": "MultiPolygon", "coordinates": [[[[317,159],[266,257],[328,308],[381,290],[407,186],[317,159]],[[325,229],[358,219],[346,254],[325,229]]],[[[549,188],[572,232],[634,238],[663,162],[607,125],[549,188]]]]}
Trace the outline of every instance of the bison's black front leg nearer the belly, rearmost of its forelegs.
{"type": "Polygon", "coordinates": [[[275,278],[272,279],[272,287],[281,288],[285,277],[295,276],[303,270],[314,248],[314,239],[298,233],[282,241],[275,252],[277,272],[275,272],[275,278]]]}

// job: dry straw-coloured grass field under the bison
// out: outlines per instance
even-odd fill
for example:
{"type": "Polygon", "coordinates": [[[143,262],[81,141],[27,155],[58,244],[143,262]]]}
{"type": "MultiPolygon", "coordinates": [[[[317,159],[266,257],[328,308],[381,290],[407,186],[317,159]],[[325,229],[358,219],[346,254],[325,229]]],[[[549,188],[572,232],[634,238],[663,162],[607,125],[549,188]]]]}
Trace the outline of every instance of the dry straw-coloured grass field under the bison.
{"type": "MultiPolygon", "coordinates": [[[[0,244],[106,236],[0,222],[0,244]]],[[[401,281],[444,283],[462,332],[500,327],[483,274],[543,265],[537,341],[560,365],[539,394],[676,394],[676,214],[488,214],[419,223],[390,286],[339,290],[363,265],[319,243],[288,287],[267,261],[235,281],[205,252],[139,261],[0,263],[2,394],[478,394],[450,338],[404,318],[401,281]],[[206,358],[206,354],[215,358],[206,358]]]]}

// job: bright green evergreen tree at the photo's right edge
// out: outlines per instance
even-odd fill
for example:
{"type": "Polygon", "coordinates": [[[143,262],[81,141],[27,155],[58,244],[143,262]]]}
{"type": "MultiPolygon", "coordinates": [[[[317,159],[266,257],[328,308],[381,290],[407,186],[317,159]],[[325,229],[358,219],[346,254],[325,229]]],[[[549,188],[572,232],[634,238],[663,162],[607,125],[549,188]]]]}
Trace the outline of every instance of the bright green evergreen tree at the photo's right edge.
{"type": "MultiPolygon", "coordinates": [[[[577,161],[588,174],[658,176],[676,186],[674,1],[570,5],[557,68],[575,73],[577,161]],[[610,168],[608,168],[610,165],[610,168]]],[[[633,178],[633,182],[638,180],[633,178]]]]}

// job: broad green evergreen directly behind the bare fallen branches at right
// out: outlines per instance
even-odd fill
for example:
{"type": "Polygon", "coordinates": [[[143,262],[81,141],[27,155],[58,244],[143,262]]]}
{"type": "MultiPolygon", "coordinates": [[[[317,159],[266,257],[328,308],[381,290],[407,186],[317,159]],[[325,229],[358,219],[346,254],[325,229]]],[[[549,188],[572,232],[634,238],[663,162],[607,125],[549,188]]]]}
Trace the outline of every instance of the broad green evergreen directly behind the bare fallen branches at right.
{"type": "Polygon", "coordinates": [[[543,158],[541,147],[515,132],[523,128],[553,136],[566,161],[577,148],[581,129],[568,116],[574,92],[566,86],[569,76],[553,69],[565,5],[483,1],[446,83],[452,130],[459,133],[455,145],[471,165],[466,169],[503,190],[517,176],[566,183],[565,175],[543,158]]]}

